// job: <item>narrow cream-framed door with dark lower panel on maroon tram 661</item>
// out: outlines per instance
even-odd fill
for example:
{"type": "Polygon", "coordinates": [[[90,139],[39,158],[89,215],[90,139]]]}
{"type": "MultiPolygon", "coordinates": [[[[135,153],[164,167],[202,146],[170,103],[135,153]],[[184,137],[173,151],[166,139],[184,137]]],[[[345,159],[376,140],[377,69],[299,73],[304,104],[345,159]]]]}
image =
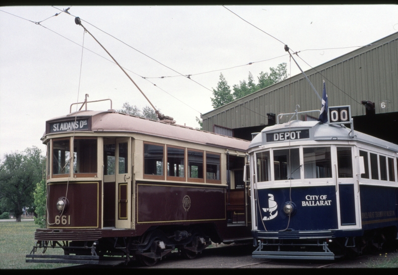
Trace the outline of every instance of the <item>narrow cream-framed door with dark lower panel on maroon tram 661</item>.
{"type": "Polygon", "coordinates": [[[116,138],[115,228],[131,227],[131,138],[116,138]]]}

